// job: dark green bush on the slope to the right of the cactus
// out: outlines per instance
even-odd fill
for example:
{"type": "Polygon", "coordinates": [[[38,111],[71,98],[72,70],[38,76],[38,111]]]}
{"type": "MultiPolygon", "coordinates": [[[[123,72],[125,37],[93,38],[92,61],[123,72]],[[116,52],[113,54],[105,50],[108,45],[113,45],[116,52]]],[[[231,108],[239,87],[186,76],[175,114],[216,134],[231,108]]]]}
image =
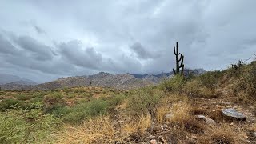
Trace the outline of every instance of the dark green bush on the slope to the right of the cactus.
{"type": "Polygon", "coordinates": [[[218,82],[220,81],[220,78],[222,78],[222,72],[219,70],[215,71],[208,71],[205,74],[202,74],[199,76],[200,82],[202,83],[202,86],[206,86],[209,88],[212,93],[214,93],[214,90],[218,86],[218,82]]]}

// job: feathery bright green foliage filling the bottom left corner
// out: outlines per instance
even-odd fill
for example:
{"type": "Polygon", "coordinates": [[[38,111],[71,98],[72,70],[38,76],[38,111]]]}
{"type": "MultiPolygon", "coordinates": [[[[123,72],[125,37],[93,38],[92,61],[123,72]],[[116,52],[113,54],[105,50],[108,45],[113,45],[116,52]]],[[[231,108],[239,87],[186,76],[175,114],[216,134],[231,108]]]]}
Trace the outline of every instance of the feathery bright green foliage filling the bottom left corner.
{"type": "Polygon", "coordinates": [[[34,103],[30,110],[14,108],[0,113],[0,142],[46,142],[50,133],[60,124],[50,114],[42,113],[42,104],[34,103]]]}

